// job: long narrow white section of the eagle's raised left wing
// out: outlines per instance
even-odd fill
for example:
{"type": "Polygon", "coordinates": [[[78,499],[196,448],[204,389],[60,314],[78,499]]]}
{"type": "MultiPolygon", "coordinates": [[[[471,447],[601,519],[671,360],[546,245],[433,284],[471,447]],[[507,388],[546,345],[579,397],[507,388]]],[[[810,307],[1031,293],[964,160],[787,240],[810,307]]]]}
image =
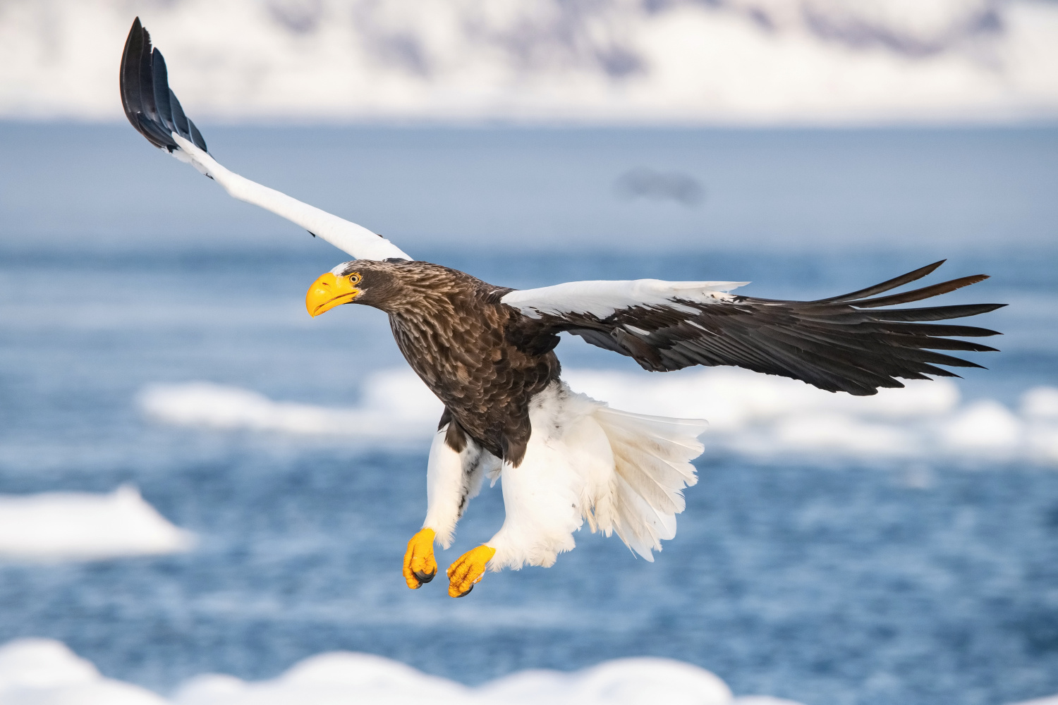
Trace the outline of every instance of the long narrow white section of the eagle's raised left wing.
{"type": "Polygon", "coordinates": [[[223,186],[232,198],[271,210],[357,259],[412,259],[400,247],[366,227],[229,171],[205,151],[176,132],[172,133],[172,138],[180,145],[180,149],[175,150],[172,155],[211,177],[223,186]]]}

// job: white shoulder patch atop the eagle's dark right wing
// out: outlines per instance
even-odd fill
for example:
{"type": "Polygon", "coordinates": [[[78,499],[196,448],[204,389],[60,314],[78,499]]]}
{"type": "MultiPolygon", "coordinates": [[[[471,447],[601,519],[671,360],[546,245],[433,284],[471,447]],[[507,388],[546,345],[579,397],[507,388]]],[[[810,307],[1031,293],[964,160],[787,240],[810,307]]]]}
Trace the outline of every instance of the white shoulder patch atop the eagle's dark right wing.
{"type": "Polygon", "coordinates": [[[590,314],[607,318],[631,307],[667,307],[694,313],[689,303],[717,303],[733,298],[732,289],[748,281],[662,281],[661,279],[628,279],[623,281],[569,281],[553,286],[509,292],[499,299],[523,315],[540,318],[567,313],[590,314]]]}

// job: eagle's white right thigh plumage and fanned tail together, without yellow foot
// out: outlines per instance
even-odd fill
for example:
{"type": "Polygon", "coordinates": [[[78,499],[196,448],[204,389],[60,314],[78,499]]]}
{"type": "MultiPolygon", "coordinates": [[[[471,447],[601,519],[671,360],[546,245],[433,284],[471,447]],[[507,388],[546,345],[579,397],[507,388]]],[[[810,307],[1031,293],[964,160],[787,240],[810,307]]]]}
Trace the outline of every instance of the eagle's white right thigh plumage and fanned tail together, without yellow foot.
{"type": "Polygon", "coordinates": [[[533,397],[529,420],[524,460],[503,466],[507,518],[486,543],[490,569],[551,565],[585,521],[653,560],[676,535],[683,487],[697,482],[706,422],[618,411],[562,383],[533,397]]]}

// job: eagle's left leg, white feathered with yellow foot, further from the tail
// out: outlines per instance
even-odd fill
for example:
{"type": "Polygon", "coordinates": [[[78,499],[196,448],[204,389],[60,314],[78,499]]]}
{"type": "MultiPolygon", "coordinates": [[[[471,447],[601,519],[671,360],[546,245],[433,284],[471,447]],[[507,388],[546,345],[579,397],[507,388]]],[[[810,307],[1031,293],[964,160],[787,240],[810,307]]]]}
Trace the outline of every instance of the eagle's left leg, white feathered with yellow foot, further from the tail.
{"type": "Polygon", "coordinates": [[[445,411],[426,464],[426,518],[404,554],[404,579],[412,590],[434,579],[437,574],[434,541],[444,549],[452,545],[456,523],[467,502],[480,489],[487,460],[491,458],[445,411]]]}

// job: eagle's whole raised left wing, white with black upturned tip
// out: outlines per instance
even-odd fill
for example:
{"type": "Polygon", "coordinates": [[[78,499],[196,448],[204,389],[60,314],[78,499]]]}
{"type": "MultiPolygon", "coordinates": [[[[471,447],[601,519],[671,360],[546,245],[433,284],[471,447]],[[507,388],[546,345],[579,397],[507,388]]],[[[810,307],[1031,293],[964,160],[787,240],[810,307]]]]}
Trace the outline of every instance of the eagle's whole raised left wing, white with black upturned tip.
{"type": "Polygon", "coordinates": [[[151,49],[150,35],[140,24],[139,17],[132,22],[125,41],[121,93],[125,115],[140,134],[216,181],[229,196],[271,210],[357,259],[412,259],[400,247],[366,227],[243,179],[218,164],[207,152],[205,140],[195,123],[187,118],[169,89],[165,59],[161,52],[151,49]]]}

